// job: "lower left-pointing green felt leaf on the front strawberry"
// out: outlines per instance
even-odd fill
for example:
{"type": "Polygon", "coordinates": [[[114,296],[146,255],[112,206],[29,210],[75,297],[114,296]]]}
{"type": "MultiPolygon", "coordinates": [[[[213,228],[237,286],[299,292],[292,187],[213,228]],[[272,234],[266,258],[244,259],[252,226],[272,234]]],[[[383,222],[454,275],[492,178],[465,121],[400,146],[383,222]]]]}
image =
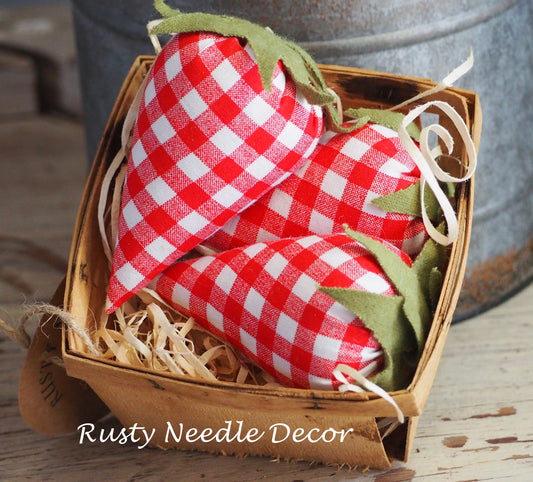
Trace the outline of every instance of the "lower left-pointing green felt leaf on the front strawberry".
{"type": "Polygon", "coordinates": [[[348,308],[372,330],[385,357],[379,385],[387,391],[405,388],[413,376],[417,345],[405,319],[402,296],[387,296],[349,288],[321,286],[320,291],[348,308]],[[415,355],[411,357],[410,355],[415,355]]]}

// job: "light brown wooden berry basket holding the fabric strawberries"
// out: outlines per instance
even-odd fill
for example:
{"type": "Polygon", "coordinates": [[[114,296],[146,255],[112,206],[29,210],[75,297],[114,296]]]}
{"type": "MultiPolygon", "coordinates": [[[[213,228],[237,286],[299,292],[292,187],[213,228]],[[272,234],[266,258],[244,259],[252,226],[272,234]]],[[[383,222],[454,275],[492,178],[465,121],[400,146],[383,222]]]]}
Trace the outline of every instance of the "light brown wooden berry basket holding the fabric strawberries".
{"type": "MultiPolygon", "coordinates": [[[[87,181],[76,222],[64,309],[89,333],[95,330],[94,320],[104,310],[109,277],[96,216],[100,185],[119,149],[120,131],[129,105],[152,61],[153,57],[139,57],[124,82],[87,181]]],[[[321,68],[346,108],[387,108],[435,85],[429,80],[355,68],[321,68]]],[[[450,88],[422,102],[436,99],[448,102],[463,117],[477,148],[481,130],[477,95],[450,88]]],[[[124,427],[137,423],[155,429],[150,445],[374,468],[390,467],[393,460],[406,461],[459,297],[472,220],[473,180],[458,187],[456,208],[460,235],[450,250],[444,286],[425,350],[412,383],[405,390],[390,394],[406,422],[384,439],[378,423],[396,414],[388,402],[373,393],[208,382],[134,369],[92,356],[72,330],[64,329],[62,356],[67,373],[86,381],[124,427]],[[183,427],[180,442],[168,437],[169,426],[176,437],[183,427]],[[204,429],[208,429],[206,434],[209,429],[225,431],[219,432],[218,441],[208,436],[186,439],[185,433],[190,428],[197,429],[197,435],[204,429]],[[261,433],[264,436],[260,437],[261,433]]]]}

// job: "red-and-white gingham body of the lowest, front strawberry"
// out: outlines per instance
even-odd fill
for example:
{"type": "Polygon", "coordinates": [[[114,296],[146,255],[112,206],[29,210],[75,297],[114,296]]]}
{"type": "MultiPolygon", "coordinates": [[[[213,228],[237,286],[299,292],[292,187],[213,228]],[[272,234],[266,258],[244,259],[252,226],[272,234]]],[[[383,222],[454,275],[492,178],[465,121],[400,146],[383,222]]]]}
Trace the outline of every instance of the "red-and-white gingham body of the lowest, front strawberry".
{"type": "Polygon", "coordinates": [[[357,370],[373,360],[381,365],[383,352],[363,322],[319,285],[395,294],[374,258],[344,233],[178,262],[150,286],[281,383],[331,390],[339,363],[357,370]]]}

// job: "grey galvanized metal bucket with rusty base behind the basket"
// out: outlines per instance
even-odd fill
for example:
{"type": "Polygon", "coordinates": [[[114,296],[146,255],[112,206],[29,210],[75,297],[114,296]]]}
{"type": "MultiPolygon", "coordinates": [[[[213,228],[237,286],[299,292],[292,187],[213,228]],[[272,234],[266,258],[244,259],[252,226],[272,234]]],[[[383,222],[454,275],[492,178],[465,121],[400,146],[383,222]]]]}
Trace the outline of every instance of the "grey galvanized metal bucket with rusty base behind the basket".
{"type": "MultiPolygon", "coordinates": [[[[74,0],[90,155],[129,66],[153,53],[149,0],[74,0]]],[[[440,80],[474,50],[459,87],[476,91],[483,137],[468,270],[456,319],[506,299],[533,277],[533,3],[530,0],[181,0],[184,11],[269,25],[318,62],[440,80]]]]}

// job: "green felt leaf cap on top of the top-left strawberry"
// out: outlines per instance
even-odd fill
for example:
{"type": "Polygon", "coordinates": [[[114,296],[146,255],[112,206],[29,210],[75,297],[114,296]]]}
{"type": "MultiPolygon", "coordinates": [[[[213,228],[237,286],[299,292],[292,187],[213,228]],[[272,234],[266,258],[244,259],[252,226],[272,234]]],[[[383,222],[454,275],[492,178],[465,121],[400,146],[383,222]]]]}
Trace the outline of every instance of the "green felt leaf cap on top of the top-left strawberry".
{"type": "Polygon", "coordinates": [[[201,12],[183,13],[168,7],[163,0],[155,0],[154,6],[164,20],[152,29],[153,34],[212,32],[224,37],[246,39],[255,54],[265,90],[271,91],[274,70],[281,60],[302,95],[310,103],[324,107],[327,128],[336,132],[353,130],[353,126],[341,126],[336,97],[328,90],[315,61],[299,45],[276,35],[269,28],[242,18],[201,12]]]}

